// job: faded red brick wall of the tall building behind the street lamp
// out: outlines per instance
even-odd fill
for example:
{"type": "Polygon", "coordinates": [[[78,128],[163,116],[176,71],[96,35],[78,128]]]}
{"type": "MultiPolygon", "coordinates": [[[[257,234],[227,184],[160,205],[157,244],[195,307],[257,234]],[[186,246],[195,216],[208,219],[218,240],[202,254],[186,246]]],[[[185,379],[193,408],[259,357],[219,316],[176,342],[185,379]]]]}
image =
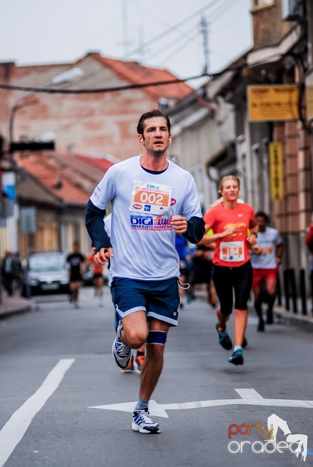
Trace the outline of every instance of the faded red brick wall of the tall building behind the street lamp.
{"type": "MultiPolygon", "coordinates": [[[[84,77],[61,85],[68,89],[105,88],[127,85],[117,74],[90,56],[74,65],[36,67],[0,67],[2,83],[20,86],[43,86],[53,76],[78,66],[84,77]],[[6,73],[6,75],[5,75],[6,73]]],[[[24,91],[0,90],[0,132],[9,136],[10,108],[24,91]]],[[[14,119],[14,139],[29,138],[53,132],[58,150],[71,147],[80,153],[102,153],[125,159],[140,152],[136,126],[140,115],[158,104],[144,90],[126,90],[93,94],[42,94],[28,100],[17,110],[14,119]],[[32,103],[32,104],[31,104],[32,103]]]]}

